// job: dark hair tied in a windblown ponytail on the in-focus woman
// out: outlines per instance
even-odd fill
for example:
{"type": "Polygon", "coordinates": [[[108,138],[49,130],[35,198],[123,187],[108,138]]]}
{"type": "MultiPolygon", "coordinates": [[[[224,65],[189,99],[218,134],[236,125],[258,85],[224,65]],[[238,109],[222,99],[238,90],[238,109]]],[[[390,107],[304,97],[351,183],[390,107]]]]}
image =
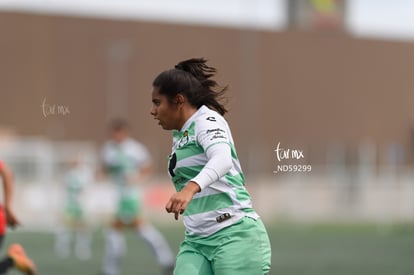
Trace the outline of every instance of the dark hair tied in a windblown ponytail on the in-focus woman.
{"type": "Polygon", "coordinates": [[[174,69],[160,73],[153,81],[152,86],[159,89],[159,93],[167,96],[174,102],[177,94],[184,95],[189,103],[200,108],[202,105],[224,115],[227,110],[220,101],[224,99],[226,87],[219,87],[212,80],[217,70],[206,65],[204,58],[192,58],[181,61],[174,69]]]}

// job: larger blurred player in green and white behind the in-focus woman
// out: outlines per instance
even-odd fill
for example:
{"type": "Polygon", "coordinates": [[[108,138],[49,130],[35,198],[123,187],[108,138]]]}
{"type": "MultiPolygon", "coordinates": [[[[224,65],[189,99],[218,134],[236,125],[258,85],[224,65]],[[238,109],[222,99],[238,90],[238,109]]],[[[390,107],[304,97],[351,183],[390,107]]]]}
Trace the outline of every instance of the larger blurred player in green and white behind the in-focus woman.
{"type": "Polygon", "coordinates": [[[125,252],[124,228],[131,228],[152,248],[164,274],[172,274],[174,257],[161,233],[140,216],[141,201],[137,181],[151,173],[151,159],[144,145],[129,137],[128,124],[116,119],[110,125],[111,139],[102,149],[105,174],[116,184],[118,204],[111,229],[106,232],[104,275],[119,274],[120,258],[125,252]]]}

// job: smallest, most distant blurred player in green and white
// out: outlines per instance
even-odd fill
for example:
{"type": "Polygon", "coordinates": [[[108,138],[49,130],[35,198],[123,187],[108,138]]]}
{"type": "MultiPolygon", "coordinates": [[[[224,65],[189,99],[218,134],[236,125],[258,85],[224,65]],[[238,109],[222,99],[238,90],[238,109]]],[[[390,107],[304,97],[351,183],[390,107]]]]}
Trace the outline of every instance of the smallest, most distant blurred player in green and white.
{"type": "Polygon", "coordinates": [[[75,242],[76,257],[80,260],[88,260],[91,257],[91,234],[81,198],[89,179],[88,171],[77,159],[69,164],[69,169],[63,177],[65,202],[62,224],[55,234],[55,251],[62,258],[70,255],[72,241],[75,242]]]}

